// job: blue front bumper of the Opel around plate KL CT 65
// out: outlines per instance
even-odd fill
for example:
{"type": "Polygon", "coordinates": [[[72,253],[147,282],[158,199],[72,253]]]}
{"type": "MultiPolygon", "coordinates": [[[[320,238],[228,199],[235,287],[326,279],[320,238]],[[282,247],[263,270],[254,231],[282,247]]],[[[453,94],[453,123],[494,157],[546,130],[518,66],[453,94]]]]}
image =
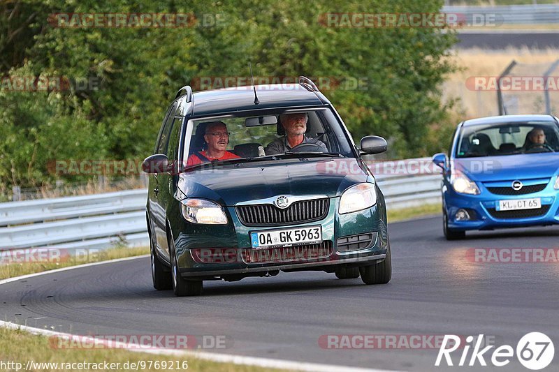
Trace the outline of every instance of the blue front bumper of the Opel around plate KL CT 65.
{"type": "MultiPolygon", "coordinates": [[[[478,183],[479,186],[479,183],[478,183]]],[[[523,195],[496,195],[484,186],[479,195],[459,194],[447,188],[443,193],[449,228],[453,230],[493,230],[495,228],[521,228],[528,226],[553,225],[559,223],[559,191],[550,182],[544,190],[523,195]],[[540,198],[542,209],[510,212],[502,216],[495,212],[499,200],[540,198]],[[456,221],[458,209],[474,211],[471,221],[456,221]]]]}

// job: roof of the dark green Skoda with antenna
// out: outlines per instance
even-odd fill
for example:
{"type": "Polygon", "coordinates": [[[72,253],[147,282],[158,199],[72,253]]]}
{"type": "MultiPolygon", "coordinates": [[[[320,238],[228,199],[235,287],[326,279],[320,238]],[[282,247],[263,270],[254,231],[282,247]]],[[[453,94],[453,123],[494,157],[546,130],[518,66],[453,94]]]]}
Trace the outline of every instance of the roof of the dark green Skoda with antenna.
{"type": "MultiPolygon", "coordinates": [[[[256,94],[259,99],[258,105],[254,104],[252,86],[198,91],[192,95],[189,116],[215,116],[247,110],[319,106],[329,103],[319,91],[307,89],[302,84],[256,85],[256,94]]],[[[182,96],[180,100],[185,101],[186,97],[182,96]]]]}

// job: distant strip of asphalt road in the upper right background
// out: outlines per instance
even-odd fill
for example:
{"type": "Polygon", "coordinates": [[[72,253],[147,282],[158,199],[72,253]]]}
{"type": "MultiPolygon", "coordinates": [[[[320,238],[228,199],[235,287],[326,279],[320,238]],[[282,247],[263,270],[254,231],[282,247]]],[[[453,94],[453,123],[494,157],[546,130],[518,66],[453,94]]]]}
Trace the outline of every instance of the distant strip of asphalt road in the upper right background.
{"type": "Polygon", "coordinates": [[[460,32],[458,49],[479,47],[498,50],[507,47],[547,49],[559,47],[557,32],[460,32]]]}

